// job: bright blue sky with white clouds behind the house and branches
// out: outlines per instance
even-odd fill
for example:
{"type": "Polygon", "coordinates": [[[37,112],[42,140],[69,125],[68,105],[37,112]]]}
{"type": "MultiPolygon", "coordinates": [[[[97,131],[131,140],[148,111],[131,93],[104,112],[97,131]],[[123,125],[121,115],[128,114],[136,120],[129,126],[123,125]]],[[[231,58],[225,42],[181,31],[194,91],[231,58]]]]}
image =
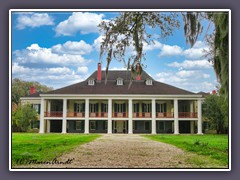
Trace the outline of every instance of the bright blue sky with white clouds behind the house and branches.
{"type": "MultiPolygon", "coordinates": [[[[103,36],[97,25],[116,15],[118,12],[12,12],[12,78],[38,81],[54,89],[85,80],[99,61],[103,36]]],[[[203,57],[203,49],[209,48],[203,35],[190,48],[181,21],[173,36],[154,41],[144,46],[144,70],[155,80],[192,92],[215,89],[212,64],[203,57]]],[[[104,58],[102,62],[104,69],[104,58]]],[[[125,68],[112,60],[110,69],[125,68]]]]}

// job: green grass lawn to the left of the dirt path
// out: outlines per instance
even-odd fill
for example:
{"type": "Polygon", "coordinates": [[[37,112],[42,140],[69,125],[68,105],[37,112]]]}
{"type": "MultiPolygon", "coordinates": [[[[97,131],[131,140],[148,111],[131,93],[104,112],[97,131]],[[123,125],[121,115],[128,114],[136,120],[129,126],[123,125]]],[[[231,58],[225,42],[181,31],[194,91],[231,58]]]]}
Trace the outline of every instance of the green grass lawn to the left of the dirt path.
{"type": "Polygon", "coordinates": [[[95,140],[97,134],[12,134],[12,165],[31,160],[51,161],[74,147],[95,140]]]}

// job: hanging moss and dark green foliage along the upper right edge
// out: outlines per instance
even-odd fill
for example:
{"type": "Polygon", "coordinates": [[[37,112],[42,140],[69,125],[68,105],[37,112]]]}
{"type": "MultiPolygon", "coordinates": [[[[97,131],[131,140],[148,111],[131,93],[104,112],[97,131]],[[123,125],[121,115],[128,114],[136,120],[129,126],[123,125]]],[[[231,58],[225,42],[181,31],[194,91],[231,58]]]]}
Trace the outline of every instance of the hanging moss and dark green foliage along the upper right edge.
{"type": "Polygon", "coordinates": [[[228,101],[229,92],[229,22],[228,12],[187,12],[183,13],[184,33],[187,43],[191,46],[197,41],[202,33],[201,21],[208,20],[213,23],[215,30],[213,34],[206,36],[210,50],[206,53],[209,61],[213,63],[218,81],[221,84],[220,93],[228,101]]]}

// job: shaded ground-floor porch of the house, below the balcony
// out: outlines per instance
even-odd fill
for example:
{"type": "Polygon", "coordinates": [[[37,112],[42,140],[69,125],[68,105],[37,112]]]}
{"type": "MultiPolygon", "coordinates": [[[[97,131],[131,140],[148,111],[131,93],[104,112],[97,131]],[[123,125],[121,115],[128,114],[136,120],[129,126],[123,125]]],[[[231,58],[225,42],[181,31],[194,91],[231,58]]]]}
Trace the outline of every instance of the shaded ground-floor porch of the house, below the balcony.
{"type": "Polygon", "coordinates": [[[119,133],[119,134],[179,134],[199,133],[197,120],[66,120],[45,119],[44,133],[119,133]]]}

